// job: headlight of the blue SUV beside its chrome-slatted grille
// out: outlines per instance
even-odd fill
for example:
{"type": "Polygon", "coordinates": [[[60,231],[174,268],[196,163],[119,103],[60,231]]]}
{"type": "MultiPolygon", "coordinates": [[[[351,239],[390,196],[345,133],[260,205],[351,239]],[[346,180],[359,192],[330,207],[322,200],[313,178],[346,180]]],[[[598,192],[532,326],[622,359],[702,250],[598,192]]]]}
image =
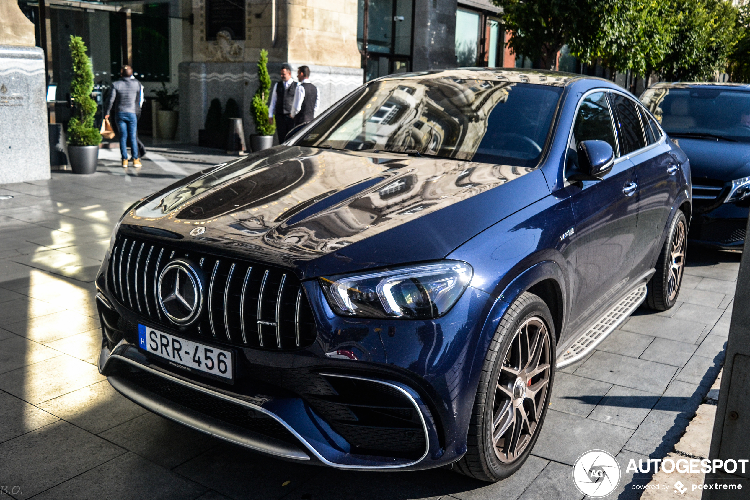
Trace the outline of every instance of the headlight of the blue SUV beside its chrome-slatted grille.
{"type": "Polygon", "coordinates": [[[442,316],[469,285],[466,262],[443,261],[367,274],[320,279],[336,313],[362,318],[432,319],[442,316]]]}

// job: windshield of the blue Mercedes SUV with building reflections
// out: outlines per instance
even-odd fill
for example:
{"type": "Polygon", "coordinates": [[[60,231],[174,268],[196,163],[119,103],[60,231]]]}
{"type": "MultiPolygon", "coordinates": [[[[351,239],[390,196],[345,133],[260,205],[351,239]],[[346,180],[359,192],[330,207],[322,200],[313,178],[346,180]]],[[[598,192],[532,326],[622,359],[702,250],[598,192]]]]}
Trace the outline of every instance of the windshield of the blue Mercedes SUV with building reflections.
{"type": "Polygon", "coordinates": [[[297,145],[536,166],[562,88],[392,79],[356,91],[297,145]]]}

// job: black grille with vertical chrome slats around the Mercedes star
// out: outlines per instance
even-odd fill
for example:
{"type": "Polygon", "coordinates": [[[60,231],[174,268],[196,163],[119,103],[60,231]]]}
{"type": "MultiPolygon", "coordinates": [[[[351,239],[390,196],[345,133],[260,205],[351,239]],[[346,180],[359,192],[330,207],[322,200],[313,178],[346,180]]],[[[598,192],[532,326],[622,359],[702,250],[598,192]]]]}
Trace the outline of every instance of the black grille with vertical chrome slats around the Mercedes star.
{"type": "Polygon", "coordinates": [[[110,258],[110,291],[133,313],[176,328],[158,304],[159,274],[175,256],[200,269],[207,291],[201,316],[180,328],[181,334],[270,350],[314,342],[317,331],[308,299],[297,277],[283,269],[121,235],[110,258]]]}

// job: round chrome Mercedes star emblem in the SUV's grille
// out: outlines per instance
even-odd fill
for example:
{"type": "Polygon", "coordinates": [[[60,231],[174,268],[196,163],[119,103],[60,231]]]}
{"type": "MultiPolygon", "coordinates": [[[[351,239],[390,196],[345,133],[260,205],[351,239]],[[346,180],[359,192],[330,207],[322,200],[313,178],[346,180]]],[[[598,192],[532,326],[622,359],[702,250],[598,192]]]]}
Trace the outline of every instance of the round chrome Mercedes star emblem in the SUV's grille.
{"type": "Polygon", "coordinates": [[[203,288],[198,273],[184,260],[173,260],[159,274],[159,306],[175,325],[190,325],[200,316],[203,288]]]}

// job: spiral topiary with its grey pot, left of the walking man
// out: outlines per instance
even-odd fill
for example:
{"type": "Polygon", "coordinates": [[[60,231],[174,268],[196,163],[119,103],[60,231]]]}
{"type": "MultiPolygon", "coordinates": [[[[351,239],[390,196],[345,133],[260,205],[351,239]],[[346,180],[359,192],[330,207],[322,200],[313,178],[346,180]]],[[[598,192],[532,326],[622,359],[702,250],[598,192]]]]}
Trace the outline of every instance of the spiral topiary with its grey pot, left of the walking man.
{"type": "Polygon", "coordinates": [[[93,174],[99,160],[101,134],[94,126],[97,106],[91,97],[94,91],[92,60],[86,55],[86,44],[81,37],[71,34],[68,46],[73,59],[71,100],[74,104],[71,121],[68,122],[68,157],[74,173],[93,174]]]}

